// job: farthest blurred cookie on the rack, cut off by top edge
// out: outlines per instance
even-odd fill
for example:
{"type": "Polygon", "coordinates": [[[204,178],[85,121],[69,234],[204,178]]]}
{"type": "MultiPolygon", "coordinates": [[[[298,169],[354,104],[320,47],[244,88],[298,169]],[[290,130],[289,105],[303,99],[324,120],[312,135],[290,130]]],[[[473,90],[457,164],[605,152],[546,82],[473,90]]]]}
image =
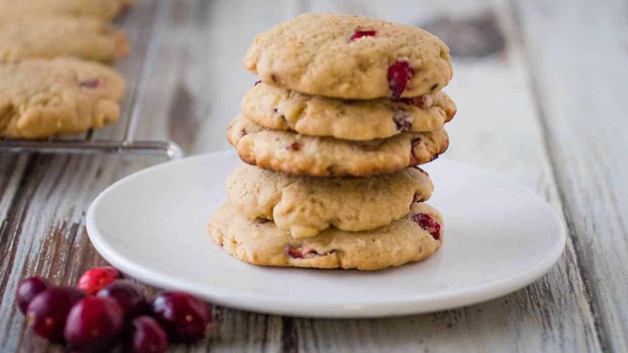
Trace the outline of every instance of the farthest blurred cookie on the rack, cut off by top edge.
{"type": "Polygon", "coordinates": [[[0,18],[41,14],[112,19],[133,3],[134,0],[0,0],[0,18]]]}

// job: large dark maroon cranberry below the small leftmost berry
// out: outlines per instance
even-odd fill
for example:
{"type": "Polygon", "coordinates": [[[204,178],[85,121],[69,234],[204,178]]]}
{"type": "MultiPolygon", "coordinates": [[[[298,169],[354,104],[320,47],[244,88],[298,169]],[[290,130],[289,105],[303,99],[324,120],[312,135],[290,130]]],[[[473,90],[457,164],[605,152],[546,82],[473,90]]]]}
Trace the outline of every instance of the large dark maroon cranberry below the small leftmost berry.
{"type": "Polygon", "coordinates": [[[72,305],[85,296],[72,287],[52,287],[36,295],[26,309],[35,334],[53,343],[63,342],[63,327],[72,305]]]}

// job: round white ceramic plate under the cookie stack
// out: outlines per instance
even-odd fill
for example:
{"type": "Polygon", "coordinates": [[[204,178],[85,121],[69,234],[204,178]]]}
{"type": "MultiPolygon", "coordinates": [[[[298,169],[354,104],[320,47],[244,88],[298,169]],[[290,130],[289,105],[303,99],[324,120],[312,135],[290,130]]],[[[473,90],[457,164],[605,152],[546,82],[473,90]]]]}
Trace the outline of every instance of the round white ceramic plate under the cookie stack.
{"type": "Polygon", "coordinates": [[[87,231],[113,266],[150,285],[225,307],[301,317],[381,317],[461,307],[546,273],[565,229],[541,198],[487,171],[447,160],[425,166],[429,203],[445,219],[431,258],[382,271],[271,268],[234,259],[207,223],[241,163],[232,151],[172,161],[115,183],[94,200],[87,231]]]}

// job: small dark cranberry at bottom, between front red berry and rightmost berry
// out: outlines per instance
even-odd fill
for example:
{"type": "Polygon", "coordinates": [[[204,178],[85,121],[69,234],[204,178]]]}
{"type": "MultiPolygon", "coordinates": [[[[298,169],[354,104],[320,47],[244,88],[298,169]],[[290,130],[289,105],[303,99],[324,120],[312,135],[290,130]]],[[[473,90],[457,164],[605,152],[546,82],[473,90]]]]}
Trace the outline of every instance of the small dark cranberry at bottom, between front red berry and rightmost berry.
{"type": "Polygon", "coordinates": [[[163,353],[168,348],[168,335],[152,317],[136,317],[124,337],[124,352],[163,353]]]}

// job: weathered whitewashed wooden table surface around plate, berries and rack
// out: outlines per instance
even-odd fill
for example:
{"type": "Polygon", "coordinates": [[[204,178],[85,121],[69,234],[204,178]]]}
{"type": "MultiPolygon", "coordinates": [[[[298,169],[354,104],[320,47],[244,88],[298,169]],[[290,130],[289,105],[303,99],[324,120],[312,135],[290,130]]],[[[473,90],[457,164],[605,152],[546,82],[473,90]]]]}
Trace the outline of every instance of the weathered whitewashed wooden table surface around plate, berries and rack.
{"type": "MultiPolygon", "coordinates": [[[[628,352],[628,3],[139,0],[119,19],[134,41],[119,68],[129,79],[124,116],[138,117],[138,138],[171,139],[188,155],[230,148],[225,129],[256,80],[242,67],[247,45],[307,11],[364,14],[440,35],[454,55],[446,91],[458,104],[446,157],[544,197],[566,222],[565,253],[511,295],[428,315],[313,320],[215,307],[207,339],[170,351],[628,352]]],[[[96,134],[114,136],[123,125],[96,134]]],[[[2,155],[0,352],[63,351],[26,329],[16,286],[33,275],[73,285],[105,264],[85,231],[90,202],[163,161],[2,155]]]]}

